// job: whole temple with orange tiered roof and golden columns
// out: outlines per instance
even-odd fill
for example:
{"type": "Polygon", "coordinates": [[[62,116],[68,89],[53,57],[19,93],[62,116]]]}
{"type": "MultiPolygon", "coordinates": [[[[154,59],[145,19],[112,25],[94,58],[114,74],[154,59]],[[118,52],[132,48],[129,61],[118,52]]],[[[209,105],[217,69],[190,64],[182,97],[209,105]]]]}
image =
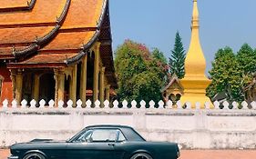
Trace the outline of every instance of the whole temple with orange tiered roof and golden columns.
{"type": "Polygon", "coordinates": [[[1,103],[103,102],[117,88],[108,0],[0,4],[1,103]]]}

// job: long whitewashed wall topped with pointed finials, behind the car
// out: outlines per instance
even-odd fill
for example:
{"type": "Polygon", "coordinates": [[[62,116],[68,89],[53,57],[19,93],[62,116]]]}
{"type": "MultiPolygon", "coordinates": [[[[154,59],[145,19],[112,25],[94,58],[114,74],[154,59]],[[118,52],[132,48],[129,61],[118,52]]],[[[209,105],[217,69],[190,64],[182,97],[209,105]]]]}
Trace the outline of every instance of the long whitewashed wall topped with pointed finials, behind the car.
{"type": "Polygon", "coordinates": [[[5,100],[0,107],[0,147],[35,138],[65,140],[91,124],[125,124],[149,141],[179,143],[182,148],[255,149],[256,102],[166,104],[163,101],[73,102],[5,100]],[[147,108],[146,108],[147,107],[147,108]]]}

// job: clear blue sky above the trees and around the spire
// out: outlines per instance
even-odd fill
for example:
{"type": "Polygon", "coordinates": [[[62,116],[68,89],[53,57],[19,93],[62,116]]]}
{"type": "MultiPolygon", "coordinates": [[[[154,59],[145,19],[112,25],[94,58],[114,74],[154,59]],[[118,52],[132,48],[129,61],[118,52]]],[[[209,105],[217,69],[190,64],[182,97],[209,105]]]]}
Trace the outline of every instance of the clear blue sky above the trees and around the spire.
{"type": "MultiPolygon", "coordinates": [[[[248,43],[256,48],[256,0],[198,0],[198,5],[207,71],[221,47],[237,52],[248,43]]],[[[110,0],[113,49],[131,39],[169,57],[179,31],[187,51],[191,14],[192,0],[110,0]]]]}

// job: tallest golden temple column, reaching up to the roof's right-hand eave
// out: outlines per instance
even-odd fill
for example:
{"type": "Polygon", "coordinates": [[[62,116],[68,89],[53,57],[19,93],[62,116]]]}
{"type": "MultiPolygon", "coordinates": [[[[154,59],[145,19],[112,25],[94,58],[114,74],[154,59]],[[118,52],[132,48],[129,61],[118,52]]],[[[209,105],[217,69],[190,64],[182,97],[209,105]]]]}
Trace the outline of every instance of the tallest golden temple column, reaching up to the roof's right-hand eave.
{"type": "Polygon", "coordinates": [[[97,43],[94,58],[93,102],[95,102],[98,99],[99,46],[100,43],[97,43]]]}

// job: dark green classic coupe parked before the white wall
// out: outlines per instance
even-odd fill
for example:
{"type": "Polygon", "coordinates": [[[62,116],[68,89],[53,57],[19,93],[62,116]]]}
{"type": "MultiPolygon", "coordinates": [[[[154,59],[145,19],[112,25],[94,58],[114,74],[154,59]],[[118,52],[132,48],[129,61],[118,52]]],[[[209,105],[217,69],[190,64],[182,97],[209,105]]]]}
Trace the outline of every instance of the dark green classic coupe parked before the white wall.
{"type": "Polygon", "coordinates": [[[13,144],[8,159],[177,159],[178,144],[147,142],[126,125],[91,125],[67,141],[13,144]]]}

